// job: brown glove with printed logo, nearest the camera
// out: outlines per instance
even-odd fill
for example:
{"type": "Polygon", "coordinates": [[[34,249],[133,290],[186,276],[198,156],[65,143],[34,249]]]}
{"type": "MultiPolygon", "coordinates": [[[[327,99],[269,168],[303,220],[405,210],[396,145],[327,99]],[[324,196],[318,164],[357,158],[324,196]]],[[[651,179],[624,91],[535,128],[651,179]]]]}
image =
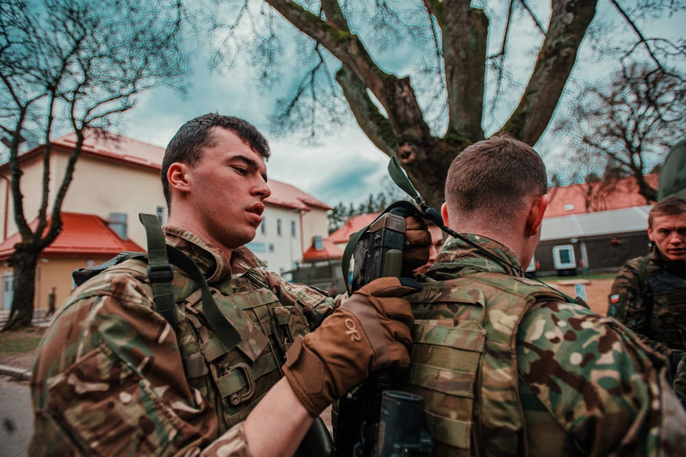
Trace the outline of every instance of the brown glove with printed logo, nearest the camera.
{"type": "Polygon", "coordinates": [[[369,373],[410,365],[412,308],[400,298],[421,290],[412,280],[383,277],[353,293],[321,327],[298,338],[283,374],[305,409],[318,416],[369,373]]]}

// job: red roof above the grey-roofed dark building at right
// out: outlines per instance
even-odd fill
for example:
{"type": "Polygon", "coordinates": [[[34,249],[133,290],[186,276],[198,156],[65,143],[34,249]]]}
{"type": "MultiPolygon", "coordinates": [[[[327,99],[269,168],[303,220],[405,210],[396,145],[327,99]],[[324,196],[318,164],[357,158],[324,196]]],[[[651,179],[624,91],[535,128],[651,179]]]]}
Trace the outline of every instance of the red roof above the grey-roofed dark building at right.
{"type": "MultiPolygon", "coordinates": [[[[652,188],[659,186],[660,174],[651,173],[646,175],[646,182],[652,188]]],[[[632,206],[645,206],[643,195],[639,194],[639,186],[634,177],[625,177],[617,181],[617,185],[611,193],[604,198],[593,199],[593,208],[587,210],[585,195],[589,190],[589,184],[572,184],[571,186],[549,188],[548,195],[551,197],[545,217],[567,216],[568,214],[581,214],[584,212],[621,210],[632,206]]]]}

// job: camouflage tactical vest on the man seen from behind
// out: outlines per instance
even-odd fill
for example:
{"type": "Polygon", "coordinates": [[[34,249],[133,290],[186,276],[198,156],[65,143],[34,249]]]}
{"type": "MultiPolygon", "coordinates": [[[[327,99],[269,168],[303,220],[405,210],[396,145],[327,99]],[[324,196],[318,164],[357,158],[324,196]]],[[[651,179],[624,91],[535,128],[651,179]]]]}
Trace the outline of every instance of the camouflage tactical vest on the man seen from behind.
{"type": "Polygon", "coordinates": [[[434,456],[526,456],[515,339],[540,299],[567,301],[531,280],[504,273],[424,283],[408,295],[412,365],[401,390],[425,399],[423,424],[434,456]]]}

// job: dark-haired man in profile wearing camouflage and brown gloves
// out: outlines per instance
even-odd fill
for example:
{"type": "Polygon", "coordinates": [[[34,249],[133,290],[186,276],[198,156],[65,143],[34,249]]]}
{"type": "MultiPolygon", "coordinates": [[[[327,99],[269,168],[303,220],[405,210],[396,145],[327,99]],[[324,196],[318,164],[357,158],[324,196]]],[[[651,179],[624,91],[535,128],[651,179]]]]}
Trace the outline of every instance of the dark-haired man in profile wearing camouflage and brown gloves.
{"type": "Polygon", "coordinates": [[[175,268],[174,328],[155,312],[140,259],[80,286],[38,349],[29,455],[291,455],[370,371],[409,364],[412,314],[398,297],[416,288],[378,280],[333,310],[331,298],[261,269],[244,247],[270,195],[269,155],[235,117],[206,114],[179,129],[161,169],[165,242],[193,260],[213,299],[175,268]],[[235,347],[218,333],[226,322],[235,347]]]}

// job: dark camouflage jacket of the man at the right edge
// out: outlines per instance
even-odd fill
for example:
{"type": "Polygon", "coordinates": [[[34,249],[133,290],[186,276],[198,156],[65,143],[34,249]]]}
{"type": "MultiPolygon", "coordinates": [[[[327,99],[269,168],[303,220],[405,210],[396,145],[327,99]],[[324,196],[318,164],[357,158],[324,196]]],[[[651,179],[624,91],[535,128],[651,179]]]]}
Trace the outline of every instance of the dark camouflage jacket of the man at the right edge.
{"type": "Polygon", "coordinates": [[[670,262],[653,251],[641,278],[643,259],[629,260],[617,274],[608,315],[670,358],[676,369],[686,354],[686,263],[670,262]]]}

